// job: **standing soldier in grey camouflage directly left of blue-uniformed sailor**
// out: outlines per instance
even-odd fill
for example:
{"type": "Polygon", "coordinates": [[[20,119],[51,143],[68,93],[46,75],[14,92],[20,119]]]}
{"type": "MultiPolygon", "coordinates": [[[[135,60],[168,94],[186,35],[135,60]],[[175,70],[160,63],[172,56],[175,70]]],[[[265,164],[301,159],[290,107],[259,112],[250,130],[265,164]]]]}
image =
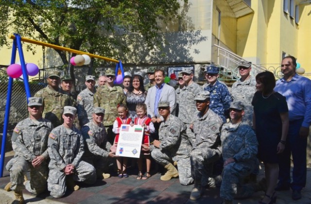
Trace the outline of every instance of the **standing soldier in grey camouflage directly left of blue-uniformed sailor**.
{"type": "Polygon", "coordinates": [[[195,136],[190,129],[190,124],[193,120],[192,116],[197,112],[193,99],[197,93],[202,91],[202,88],[200,85],[193,82],[193,69],[185,68],[181,71],[181,74],[186,85],[180,90],[178,118],[187,126],[187,136],[193,146],[195,143],[195,136]]]}

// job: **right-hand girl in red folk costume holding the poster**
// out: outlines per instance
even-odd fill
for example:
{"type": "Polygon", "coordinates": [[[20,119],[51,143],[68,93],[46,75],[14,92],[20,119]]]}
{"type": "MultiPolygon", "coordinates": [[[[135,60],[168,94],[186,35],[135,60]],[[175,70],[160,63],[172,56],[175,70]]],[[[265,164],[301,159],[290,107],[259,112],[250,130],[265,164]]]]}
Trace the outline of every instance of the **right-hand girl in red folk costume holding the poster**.
{"type": "MultiPolygon", "coordinates": [[[[136,113],[137,113],[137,118],[134,119],[134,124],[135,125],[141,125],[142,127],[144,127],[144,136],[142,139],[142,144],[145,145],[150,145],[150,140],[149,140],[149,136],[150,133],[154,133],[155,132],[155,127],[153,122],[151,121],[150,118],[147,117],[147,106],[145,103],[138,103],[136,105],[136,113]]],[[[151,156],[150,153],[147,152],[143,152],[141,151],[141,153],[143,155],[140,155],[139,159],[138,159],[138,176],[137,179],[148,179],[151,177],[150,174],[150,168],[151,168],[151,156]],[[143,158],[146,158],[146,172],[142,175],[142,162],[143,162],[143,158]]]]}

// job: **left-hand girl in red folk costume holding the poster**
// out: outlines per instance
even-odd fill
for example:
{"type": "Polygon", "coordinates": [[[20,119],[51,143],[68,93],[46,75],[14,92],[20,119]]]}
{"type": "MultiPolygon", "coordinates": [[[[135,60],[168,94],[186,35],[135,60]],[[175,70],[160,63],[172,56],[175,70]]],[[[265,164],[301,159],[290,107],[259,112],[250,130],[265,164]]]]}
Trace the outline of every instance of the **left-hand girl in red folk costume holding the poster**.
{"type": "MultiPolygon", "coordinates": [[[[132,120],[128,118],[128,108],[125,104],[118,105],[118,114],[119,117],[116,118],[115,122],[113,123],[113,129],[112,131],[116,134],[114,144],[118,144],[119,140],[119,133],[121,129],[121,125],[123,124],[131,124],[132,120]]],[[[117,158],[117,166],[119,171],[119,178],[128,177],[128,174],[126,173],[126,164],[127,164],[127,157],[120,156],[117,158]]]]}

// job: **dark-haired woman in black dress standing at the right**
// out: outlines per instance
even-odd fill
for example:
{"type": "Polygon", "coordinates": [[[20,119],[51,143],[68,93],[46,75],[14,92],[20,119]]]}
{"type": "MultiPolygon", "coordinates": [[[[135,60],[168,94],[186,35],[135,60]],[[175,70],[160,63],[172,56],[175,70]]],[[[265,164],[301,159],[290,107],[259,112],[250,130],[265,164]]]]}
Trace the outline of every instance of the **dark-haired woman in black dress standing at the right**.
{"type": "Polygon", "coordinates": [[[267,191],[259,204],[276,202],[275,187],[278,178],[278,156],[285,148],[289,126],[286,98],[275,92],[276,79],[272,72],[264,71],[256,76],[253,127],[258,139],[258,158],[264,164],[267,191]]]}

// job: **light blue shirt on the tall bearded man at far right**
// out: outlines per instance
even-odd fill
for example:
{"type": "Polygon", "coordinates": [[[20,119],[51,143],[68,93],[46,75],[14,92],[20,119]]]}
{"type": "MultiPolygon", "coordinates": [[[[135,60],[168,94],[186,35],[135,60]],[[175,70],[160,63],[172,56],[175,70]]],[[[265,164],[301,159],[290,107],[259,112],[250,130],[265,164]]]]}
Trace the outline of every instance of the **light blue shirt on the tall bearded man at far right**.
{"type": "Polygon", "coordinates": [[[291,81],[276,82],[275,91],[286,97],[290,121],[303,119],[303,127],[311,125],[311,80],[295,74],[291,81]]]}

